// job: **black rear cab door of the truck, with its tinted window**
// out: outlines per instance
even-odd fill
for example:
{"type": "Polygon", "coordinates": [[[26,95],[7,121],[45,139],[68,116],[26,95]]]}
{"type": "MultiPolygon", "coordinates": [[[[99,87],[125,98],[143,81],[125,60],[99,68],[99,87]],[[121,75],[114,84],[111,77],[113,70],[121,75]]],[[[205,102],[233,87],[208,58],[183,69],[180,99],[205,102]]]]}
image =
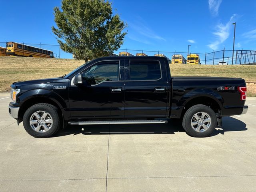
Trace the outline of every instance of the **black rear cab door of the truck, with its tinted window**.
{"type": "Polygon", "coordinates": [[[168,82],[159,60],[125,60],[125,117],[166,117],[168,82]]]}

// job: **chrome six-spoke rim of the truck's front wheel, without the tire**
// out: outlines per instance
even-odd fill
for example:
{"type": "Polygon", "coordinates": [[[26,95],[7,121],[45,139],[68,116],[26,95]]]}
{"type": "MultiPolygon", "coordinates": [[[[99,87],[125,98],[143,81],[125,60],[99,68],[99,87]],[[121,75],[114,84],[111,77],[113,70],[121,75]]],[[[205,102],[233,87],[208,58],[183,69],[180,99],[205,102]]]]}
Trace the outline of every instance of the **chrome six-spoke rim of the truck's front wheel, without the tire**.
{"type": "Polygon", "coordinates": [[[37,111],[30,116],[29,123],[36,132],[46,132],[52,127],[52,116],[45,111],[37,111]]]}

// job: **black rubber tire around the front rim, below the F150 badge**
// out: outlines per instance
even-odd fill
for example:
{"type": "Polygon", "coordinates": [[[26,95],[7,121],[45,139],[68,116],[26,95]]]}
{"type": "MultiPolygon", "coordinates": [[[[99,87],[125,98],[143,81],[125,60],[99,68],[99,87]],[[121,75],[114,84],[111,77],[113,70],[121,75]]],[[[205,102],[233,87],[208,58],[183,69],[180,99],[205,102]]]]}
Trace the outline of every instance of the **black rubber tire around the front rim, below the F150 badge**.
{"type": "MultiPolygon", "coordinates": [[[[49,116],[48,116],[48,118],[49,118],[49,116]]],[[[58,115],[58,109],[55,106],[53,106],[51,104],[47,104],[47,103],[35,104],[35,105],[31,106],[30,108],[28,108],[26,110],[26,112],[24,113],[23,126],[24,126],[26,132],[28,132],[28,134],[30,134],[33,137],[46,138],[46,137],[53,136],[60,129],[60,117],[58,115]],[[41,130],[41,132],[39,132],[39,131],[34,130],[30,126],[30,118],[37,111],[44,111],[50,115],[50,117],[52,119],[52,126],[50,127],[49,130],[45,131],[44,127],[41,127],[40,130],[41,129],[42,130],[41,130]]]]}

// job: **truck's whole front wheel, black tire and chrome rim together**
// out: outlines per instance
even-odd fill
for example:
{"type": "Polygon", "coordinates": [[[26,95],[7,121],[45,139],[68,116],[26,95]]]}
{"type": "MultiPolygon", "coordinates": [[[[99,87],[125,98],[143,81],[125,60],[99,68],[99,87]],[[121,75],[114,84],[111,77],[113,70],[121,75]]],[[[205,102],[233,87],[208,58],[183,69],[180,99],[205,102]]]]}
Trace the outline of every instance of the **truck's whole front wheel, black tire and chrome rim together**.
{"type": "Polygon", "coordinates": [[[58,109],[47,103],[35,104],[24,113],[23,126],[33,137],[50,137],[60,128],[58,109]]]}

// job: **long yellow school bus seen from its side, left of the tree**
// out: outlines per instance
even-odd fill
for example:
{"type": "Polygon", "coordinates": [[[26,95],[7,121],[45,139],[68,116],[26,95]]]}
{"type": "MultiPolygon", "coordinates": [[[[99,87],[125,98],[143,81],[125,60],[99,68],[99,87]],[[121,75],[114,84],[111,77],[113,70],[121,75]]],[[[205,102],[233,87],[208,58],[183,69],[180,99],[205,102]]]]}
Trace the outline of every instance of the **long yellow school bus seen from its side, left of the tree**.
{"type": "Polygon", "coordinates": [[[6,43],[6,54],[22,57],[54,58],[53,52],[16,42],[6,43]]]}

